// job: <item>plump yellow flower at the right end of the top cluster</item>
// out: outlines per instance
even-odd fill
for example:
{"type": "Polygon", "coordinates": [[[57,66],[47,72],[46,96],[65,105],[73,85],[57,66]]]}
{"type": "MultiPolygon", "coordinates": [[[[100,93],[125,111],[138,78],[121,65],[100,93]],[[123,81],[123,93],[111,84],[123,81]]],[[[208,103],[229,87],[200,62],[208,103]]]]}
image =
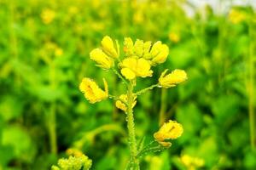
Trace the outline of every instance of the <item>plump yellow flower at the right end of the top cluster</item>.
{"type": "Polygon", "coordinates": [[[166,44],[162,44],[162,42],[158,41],[155,42],[150,50],[151,54],[151,64],[152,65],[159,65],[161,63],[164,63],[167,59],[167,56],[169,54],[169,48],[166,44]]]}

